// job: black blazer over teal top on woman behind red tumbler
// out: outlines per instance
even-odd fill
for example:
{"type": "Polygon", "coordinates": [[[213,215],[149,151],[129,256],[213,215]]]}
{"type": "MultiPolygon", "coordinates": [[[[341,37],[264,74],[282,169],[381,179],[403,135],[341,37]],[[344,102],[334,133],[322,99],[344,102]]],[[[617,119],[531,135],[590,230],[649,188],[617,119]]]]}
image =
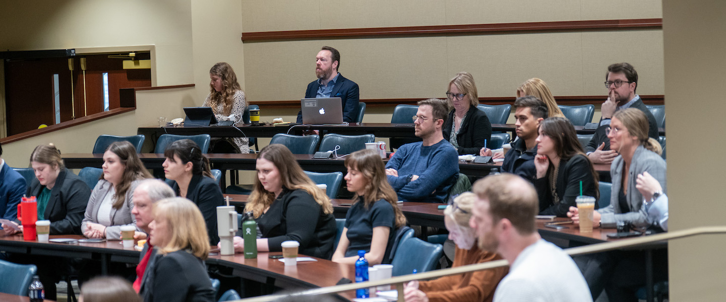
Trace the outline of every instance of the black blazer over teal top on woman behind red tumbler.
{"type": "MultiPolygon", "coordinates": [[[[25,195],[38,197],[43,188],[45,185],[33,178],[25,195]]],[[[46,220],[50,220],[50,235],[82,235],[81,221],[90,197],[89,186],[78,175],[63,168],[50,190],[48,205],[43,214],[46,220]]]]}

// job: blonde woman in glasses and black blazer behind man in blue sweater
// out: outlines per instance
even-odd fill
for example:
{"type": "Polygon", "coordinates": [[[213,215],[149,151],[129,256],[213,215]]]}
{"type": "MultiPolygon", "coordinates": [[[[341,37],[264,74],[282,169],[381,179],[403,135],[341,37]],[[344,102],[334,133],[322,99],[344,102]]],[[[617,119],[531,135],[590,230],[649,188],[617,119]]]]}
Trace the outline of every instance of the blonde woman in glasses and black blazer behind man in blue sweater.
{"type": "Polygon", "coordinates": [[[479,97],[474,77],[468,72],[459,72],[449,81],[446,98],[454,109],[444,122],[441,131],[444,139],[449,140],[459,155],[479,154],[484,142],[492,138],[492,124],[486,113],[479,110],[479,97]]]}

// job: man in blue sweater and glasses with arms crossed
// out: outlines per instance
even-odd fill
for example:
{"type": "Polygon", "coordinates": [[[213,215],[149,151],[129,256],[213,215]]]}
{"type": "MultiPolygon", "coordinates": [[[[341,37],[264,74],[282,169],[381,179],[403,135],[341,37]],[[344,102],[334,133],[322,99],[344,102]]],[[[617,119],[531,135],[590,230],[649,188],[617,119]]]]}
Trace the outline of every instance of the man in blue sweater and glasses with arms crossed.
{"type": "Polygon", "coordinates": [[[388,183],[399,201],[444,203],[459,176],[459,156],[441,127],[449,114],[446,101],[429,98],[418,102],[415,134],[423,141],[407,143],[386,164],[388,183]]]}

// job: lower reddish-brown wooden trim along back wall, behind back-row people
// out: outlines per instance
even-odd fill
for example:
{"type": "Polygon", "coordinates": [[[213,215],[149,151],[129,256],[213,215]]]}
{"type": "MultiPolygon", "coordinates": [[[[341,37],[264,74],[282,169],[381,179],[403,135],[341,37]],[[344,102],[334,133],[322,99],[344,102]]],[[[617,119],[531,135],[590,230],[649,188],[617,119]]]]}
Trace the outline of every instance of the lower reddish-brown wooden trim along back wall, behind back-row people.
{"type": "MultiPolygon", "coordinates": [[[[605,101],[606,96],[555,96],[555,101],[560,105],[584,105],[584,104],[602,104],[605,101]]],[[[643,96],[643,103],[648,105],[663,105],[664,96],[661,95],[649,95],[643,96]]],[[[411,104],[415,105],[417,101],[421,101],[426,98],[367,98],[361,99],[366,106],[396,106],[398,104],[411,104]]],[[[488,105],[501,105],[501,104],[514,104],[515,97],[491,97],[491,98],[479,98],[479,103],[488,105]]],[[[299,100],[292,101],[258,101],[254,102],[260,106],[260,108],[293,108],[300,107],[299,100]]]]}

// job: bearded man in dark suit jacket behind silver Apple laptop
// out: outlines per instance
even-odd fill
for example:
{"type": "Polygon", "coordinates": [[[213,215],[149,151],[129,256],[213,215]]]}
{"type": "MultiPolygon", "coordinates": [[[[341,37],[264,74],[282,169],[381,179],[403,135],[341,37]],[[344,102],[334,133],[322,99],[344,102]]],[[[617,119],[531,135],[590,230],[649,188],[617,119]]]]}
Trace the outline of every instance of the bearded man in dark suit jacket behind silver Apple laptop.
{"type": "MultiPolygon", "coordinates": [[[[322,46],[315,56],[317,80],[308,84],[305,98],[340,98],[343,104],[343,122],[354,122],[360,100],[358,84],[340,75],[340,53],[330,46],[322,46]]],[[[303,112],[298,112],[298,122],[303,122],[303,112]]]]}

